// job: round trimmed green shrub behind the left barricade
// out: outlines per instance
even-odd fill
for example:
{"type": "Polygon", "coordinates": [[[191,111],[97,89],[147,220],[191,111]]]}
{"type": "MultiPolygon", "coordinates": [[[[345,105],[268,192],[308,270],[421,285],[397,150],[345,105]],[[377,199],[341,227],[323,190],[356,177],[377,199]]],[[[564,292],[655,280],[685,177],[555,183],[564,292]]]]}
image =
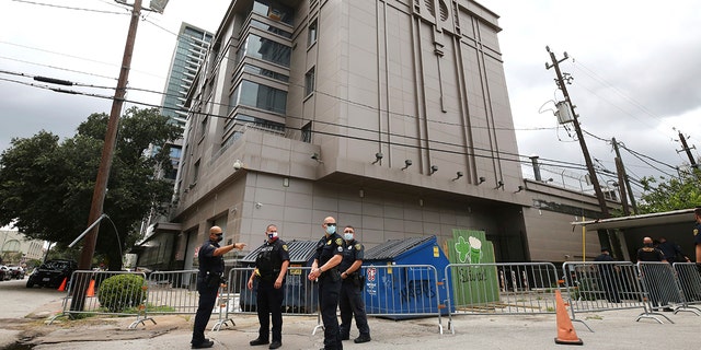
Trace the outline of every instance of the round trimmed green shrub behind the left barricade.
{"type": "Polygon", "coordinates": [[[111,313],[120,313],[128,307],[143,304],[146,291],[143,277],[139,275],[116,275],[100,284],[100,305],[111,313]]]}

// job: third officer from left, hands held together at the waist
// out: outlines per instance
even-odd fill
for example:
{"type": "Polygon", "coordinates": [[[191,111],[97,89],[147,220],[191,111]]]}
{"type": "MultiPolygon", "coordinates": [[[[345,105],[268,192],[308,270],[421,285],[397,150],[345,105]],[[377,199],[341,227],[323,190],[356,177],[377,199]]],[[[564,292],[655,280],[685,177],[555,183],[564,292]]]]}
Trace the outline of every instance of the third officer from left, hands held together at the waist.
{"type": "Polygon", "coordinates": [[[319,280],[319,305],[321,319],[324,323],[323,349],[342,350],[336,308],[338,308],[341,293],[338,264],[343,259],[346,242],[336,233],[336,219],[333,217],[325,218],[321,226],[324,229],[324,236],[317,244],[314,261],[307,278],[310,281],[319,280]]]}

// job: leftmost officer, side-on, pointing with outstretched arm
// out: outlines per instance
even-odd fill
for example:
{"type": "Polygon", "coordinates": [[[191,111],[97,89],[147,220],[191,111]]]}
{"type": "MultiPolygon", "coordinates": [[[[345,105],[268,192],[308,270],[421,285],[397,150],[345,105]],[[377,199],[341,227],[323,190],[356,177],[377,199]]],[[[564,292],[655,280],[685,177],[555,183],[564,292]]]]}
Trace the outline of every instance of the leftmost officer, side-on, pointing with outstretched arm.
{"type": "Polygon", "coordinates": [[[211,226],[209,229],[209,238],[202,244],[197,254],[197,260],[199,261],[199,271],[197,272],[199,305],[197,306],[195,325],[193,326],[193,339],[191,341],[193,349],[211,348],[214,346],[214,341],[205,338],[205,328],[217,302],[219,284],[222,282],[223,255],[233,248],[240,250],[245,247],[243,243],[233,243],[220,247],[219,242],[221,240],[223,240],[221,228],[211,226]]]}

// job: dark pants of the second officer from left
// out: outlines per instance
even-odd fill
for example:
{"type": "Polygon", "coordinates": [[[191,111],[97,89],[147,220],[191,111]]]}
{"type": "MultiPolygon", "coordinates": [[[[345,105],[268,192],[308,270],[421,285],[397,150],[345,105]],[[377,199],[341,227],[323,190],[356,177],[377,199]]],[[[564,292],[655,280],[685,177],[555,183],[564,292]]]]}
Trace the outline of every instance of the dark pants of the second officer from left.
{"type": "Polygon", "coordinates": [[[273,341],[283,341],[283,299],[285,298],[285,284],[275,289],[275,281],[262,281],[258,279],[258,290],[255,294],[258,323],[258,339],[268,340],[271,317],[273,318],[273,341]],[[271,315],[268,317],[268,315],[271,315]]]}

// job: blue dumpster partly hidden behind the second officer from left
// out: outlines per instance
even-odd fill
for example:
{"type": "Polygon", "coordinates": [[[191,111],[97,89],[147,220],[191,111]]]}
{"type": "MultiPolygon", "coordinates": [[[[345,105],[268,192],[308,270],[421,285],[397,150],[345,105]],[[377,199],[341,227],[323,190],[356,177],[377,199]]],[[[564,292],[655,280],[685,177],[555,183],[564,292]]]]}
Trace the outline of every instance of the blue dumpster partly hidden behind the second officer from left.
{"type": "MultiPolygon", "coordinates": [[[[314,261],[314,250],[317,241],[289,241],[286,242],[289,248],[289,269],[285,278],[285,300],[283,301],[283,313],[295,314],[313,314],[318,307],[317,283],[307,279],[309,269],[299,269],[300,267],[310,267],[314,261]]],[[[241,260],[244,267],[255,267],[255,258],[261,247],[249,253],[241,260]]],[[[251,271],[252,272],[252,271],[251,271]]],[[[256,292],[257,282],[253,283],[253,290],[246,288],[246,282],[251,278],[251,272],[246,272],[245,279],[241,279],[241,290],[239,291],[239,306],[243,312],[255,312],[256,310],[256,292]]]]}

